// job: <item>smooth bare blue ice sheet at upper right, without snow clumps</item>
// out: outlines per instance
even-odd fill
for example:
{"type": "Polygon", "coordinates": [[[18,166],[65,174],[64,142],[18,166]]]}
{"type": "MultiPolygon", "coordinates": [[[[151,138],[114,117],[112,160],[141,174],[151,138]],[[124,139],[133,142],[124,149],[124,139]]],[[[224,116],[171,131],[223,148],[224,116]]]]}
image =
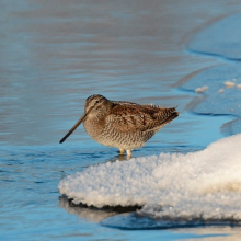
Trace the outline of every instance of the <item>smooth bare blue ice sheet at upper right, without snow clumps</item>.
{"type": "Polygon", "coordinates": [[[221,19],[194,34],[187,44],[193,51],[241,59],[241,13],[221,19]]]}

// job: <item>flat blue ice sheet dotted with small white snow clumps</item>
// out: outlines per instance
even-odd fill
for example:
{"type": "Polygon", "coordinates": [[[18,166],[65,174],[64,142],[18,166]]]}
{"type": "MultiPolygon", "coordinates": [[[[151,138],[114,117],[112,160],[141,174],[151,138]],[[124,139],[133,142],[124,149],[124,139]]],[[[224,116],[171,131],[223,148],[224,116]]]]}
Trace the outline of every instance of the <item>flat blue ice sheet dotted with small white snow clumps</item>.
{"type": "Polygon", "coordinates": [[[200,114],[232,114],[241,116],[241,65],[220,65],[204,69],[181,88],[195,91],[206,87],[198,94],[191,108],[200,114]]]}

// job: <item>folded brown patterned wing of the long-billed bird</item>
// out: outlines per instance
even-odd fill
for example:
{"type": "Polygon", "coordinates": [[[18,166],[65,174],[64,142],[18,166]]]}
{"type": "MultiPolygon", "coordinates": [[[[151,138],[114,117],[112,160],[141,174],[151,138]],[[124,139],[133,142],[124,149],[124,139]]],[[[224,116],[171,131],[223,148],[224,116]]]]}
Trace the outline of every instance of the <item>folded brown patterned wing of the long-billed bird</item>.
{"type": "Polygon", "coordinates": [[[151,131],[177,117],[175,108],[145,105],[116,105],[106,118],[106,127],[118,133],[151,131]],[[174,114],[175,113],[175,114],[174,114]]]}

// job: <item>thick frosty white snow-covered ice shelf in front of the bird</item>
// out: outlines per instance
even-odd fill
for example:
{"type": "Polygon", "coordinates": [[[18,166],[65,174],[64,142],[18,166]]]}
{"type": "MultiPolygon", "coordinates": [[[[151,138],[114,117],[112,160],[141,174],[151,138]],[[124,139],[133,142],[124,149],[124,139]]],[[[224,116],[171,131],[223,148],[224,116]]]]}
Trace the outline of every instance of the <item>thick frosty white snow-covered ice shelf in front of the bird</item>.
{"type": "Polygon", "coordinates": [[[59,192],[83,203],[141,205],[140,215],[185,220],[241,220],[241,135],[203,151],[99,164],[69,175],[59,192]]]}

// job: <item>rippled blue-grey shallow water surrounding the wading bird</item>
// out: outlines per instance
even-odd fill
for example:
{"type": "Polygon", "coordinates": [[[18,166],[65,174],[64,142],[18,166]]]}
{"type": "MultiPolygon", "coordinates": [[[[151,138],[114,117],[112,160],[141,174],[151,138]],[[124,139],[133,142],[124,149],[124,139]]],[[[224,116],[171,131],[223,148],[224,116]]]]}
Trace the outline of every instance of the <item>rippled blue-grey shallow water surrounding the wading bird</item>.
{"type": "Polygon", "coordinates": [[[187,53],[183,46],[197,27],[241,10],[239,1],[0,4],[4,10],[0,14],[1,240],[187,240],[237,231],[127,232],[103,227],[100,221],[113,214],[69,206],[59,199],[58,184],[89,165],[115,161],[116,149],[95,144],[82,127],[64,145],[58,141],[94,93],[111,100],[179,105],[181,116],[134,157],[191,152],[220,139],[220,126],[236,116],[194,114],[188,103],[197,94],[173,85],[223,62],[187,53]]]}

